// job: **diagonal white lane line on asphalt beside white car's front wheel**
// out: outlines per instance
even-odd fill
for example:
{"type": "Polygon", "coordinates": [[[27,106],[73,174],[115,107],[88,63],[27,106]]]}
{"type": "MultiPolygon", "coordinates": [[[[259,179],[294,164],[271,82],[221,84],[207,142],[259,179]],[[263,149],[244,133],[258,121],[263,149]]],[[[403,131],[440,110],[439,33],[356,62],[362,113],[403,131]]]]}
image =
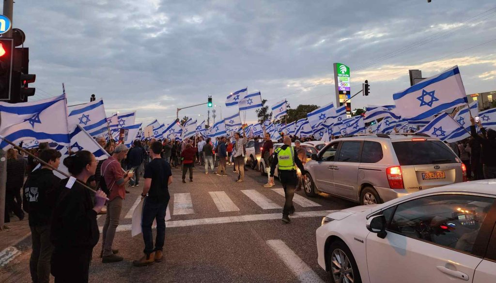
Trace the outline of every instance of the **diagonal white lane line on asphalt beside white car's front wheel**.
{"type": "Polygon", "coordinates": [[[286,264],[300,282],[324,283],[295,252],[281,240],[268,240],[267,244],[286,264]]]}

